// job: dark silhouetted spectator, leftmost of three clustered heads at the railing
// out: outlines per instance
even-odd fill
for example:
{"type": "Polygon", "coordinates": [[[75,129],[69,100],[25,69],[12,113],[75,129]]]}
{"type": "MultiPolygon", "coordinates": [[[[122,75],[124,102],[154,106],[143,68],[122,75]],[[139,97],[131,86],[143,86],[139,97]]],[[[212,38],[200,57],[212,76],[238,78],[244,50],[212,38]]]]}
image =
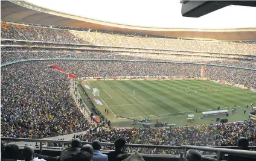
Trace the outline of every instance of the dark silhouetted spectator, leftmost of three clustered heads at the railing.
{"type": "Polygon", "coordinates": [[[80,145],[80,139],[72,140],[71,147],[62,150],[62,153],[60,154],[60,161],[72,161],[72,159],[74,159],[74,156],[80,152],[80,145]]]}

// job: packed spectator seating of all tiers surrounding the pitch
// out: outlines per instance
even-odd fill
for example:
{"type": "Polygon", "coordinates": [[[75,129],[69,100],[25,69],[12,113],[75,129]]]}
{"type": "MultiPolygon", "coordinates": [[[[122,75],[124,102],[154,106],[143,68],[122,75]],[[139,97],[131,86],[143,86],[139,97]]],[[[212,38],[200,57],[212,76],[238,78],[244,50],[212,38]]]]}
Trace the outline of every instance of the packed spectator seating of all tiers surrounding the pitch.
{"type": "MultiPolygon", "coordinates": [[[[1,33],[2,39],[13,39],[1,41],[2,45],[11,45],[1,46],[1,64],[39,58],[101,60],[37,60],[2,66],[1,137],[41,138],[89,129],[88,133],[75,135],[74,138],[78,137],[86,141],[100,139],[101,142],[113,142],[122,136],[130,144],[229,146],[236,145],[239,136],[246,136],[250,145],[256,145],[256,123],[253,120],[170,129],[101,128],[99,131],[94,131],[95,129],[91,127],[92,120],[83,115],[80,105],[77,108],[76,101],[72,98],[73,91],[70,90],[68,77],[49,68],[50,65],[56,65],[66,72],[74,73],[77,77],[158,75],[200,77],[202,65],[190,63],[255,69],[255,61],[248,60],[251,57],[253,60],[255,59],[252,55],[256,51],[255,42],[206,42],[149,38],[144,35],[142,35],[144,37],[140,35],[124,36],[5,22],[1,22],[1,33]],[[92,46],[78,46],[74,43],[92,46]],[[21,48],[17,45],[26,47],[21,48]],[[108,45],[108,47],[95,45],[108,45]],[[144,49],[124,48],[124,46],[144,49]],[[168,49],[168,51],[163,49],[168,49]],[[103,61],[104,59],[135,61],[106,62],[103,61]],[[136,62],[137,60],[143,60],[143,62],[136,62]],[[167,61],[184,63],[166,63],[167,61]]],[[[248,69],[205,65],[205,77],[256,88],[256,73],[248,69]]],[[[53,146],[52,143],[47,145],[53,146]]],[[[104,148],[107,150],[110,147],[104,148]]],[[[146,148],[127,148],[126,150],[150,154],[178,153],[176,150],[146,148]]]]}

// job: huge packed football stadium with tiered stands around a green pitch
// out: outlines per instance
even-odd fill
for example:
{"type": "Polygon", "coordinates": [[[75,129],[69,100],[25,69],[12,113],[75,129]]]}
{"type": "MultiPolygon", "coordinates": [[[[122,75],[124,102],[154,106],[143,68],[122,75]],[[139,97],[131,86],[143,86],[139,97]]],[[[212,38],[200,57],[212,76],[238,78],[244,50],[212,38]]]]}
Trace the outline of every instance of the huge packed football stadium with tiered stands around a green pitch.
{"type": "MultiPolygon", "coordinates": [[[[190,17],[242,5],[181,3],[190,17]]],[[[1,1],[1,159],[62,161],[77,146],[83,160],[92,144],[108,160],[253,160],[255,60],[255,27],[146,27],[1,1]]]]}

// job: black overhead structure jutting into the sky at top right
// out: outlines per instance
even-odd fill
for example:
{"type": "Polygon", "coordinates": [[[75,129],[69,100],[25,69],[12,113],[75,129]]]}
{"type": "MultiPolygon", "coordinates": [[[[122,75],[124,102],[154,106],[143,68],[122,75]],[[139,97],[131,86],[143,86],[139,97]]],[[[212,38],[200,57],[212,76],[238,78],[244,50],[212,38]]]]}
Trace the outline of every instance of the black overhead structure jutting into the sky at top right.
{"type": "Polygon", "coordinates": [[[184,17],[200,17],[228,5],[256,7],[256,1],[181,1],[181,3],[181,14],[184,17]]]}

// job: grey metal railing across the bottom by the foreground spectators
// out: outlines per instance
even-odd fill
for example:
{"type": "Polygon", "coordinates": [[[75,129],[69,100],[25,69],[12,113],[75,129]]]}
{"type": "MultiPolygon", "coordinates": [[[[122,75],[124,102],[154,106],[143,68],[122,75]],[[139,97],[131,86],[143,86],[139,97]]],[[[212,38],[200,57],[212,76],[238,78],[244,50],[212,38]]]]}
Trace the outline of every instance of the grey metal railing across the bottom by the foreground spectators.
{"type": "MultiPolygon", "coordinates": [[[[21,138],[11,138],[11,137],[1,137],[2,140],[13,141],[13,142],[39,142],[39,150],[42,153],[43,142],[54,142],[59,144],[71,144],[71,141],[68,140],[47,140],[47,139],[21,139],[21,138]]],[[[92,142],[81,142],[82,144],[92,144],[92,142]]],[[[102,142],[103,146],[113,146],[114,143],[106,143],[102,142]]],[[[181,145],[181,146],[168,146],[168,145],[142,145],[142,144],[126,144],[127,147],[139,147],[139,148],[159,148],[159,149],[176,149],[176,150],[184,150],[179,156],[179,160],[182,161],[184,159],[184,154],[186,154],[187,150],[194,149],[199,151],[211,151],[217,153],[216,158],[203,156],[203,159],[206,160],[224,160],[225,154],[232,154],[235,156],[242,157],[252,157],[256,159],[256,151],[246,151],[246,150],[235,150],[234,148],[238,147],[197,147],[190,145],[181,145]]],[[[57,149],[57,147],[49,147],[52,149],[57,149]]],[[[59,147],[58,147],[59,148],[59,147]]],[[[249,149],[256,150],[256,146],[249,146],[249,149]]],[[[168,155],[167,155],[168,156],[168,155]]]]}

